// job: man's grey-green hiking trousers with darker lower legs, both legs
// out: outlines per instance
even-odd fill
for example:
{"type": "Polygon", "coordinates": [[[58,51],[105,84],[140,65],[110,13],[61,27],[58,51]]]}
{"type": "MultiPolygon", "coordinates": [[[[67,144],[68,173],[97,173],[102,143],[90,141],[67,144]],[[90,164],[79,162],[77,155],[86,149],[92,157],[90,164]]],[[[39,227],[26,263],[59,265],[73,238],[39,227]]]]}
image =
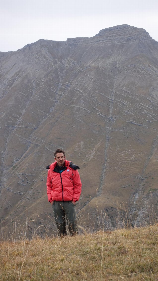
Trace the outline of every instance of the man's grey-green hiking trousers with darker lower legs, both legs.
{"type": "Polygon", "coordinates": [[[67,235],[66,220],[70,235],[78,234],[77,214],[72,201],[54,201],[52,204],[54,219],[58,229],[59,237],[67,235]]]}

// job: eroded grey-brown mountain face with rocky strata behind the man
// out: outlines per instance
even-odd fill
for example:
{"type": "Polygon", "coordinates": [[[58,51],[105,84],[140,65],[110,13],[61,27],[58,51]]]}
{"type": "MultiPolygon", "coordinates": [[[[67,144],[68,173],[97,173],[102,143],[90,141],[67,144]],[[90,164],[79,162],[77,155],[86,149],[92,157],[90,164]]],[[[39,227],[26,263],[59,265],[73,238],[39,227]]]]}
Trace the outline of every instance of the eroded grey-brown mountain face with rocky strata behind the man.
{"type": "Polygon", "coordinates": [[[157,213],[158,42],[129,25],[0,53],[2,222],[50,214],[45,167],[80,166],[78,211],[94,228],[157,213]],[[152,207],[151,207],[152,206],[152,207]],[[27,210],[26,210],[27,209],[27,210]],[[97,211],[99,210],[99,212],[97,211]]]}

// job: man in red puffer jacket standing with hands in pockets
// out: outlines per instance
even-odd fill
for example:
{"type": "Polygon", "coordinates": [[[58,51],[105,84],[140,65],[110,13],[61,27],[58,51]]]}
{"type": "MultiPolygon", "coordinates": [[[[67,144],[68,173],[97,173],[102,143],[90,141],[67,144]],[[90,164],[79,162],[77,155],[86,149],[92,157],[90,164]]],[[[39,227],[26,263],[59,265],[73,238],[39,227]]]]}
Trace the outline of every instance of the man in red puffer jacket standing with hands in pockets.
{"type": "Polygon", "coordinates": [[[55,162],[47,166],[47,195],[54,211],[59,237],[67,235],[66,219],[70,235],[78,234],[75,202],[81,194],[78,166],[65,159],[65,151],[56,149],[55,162]]]}

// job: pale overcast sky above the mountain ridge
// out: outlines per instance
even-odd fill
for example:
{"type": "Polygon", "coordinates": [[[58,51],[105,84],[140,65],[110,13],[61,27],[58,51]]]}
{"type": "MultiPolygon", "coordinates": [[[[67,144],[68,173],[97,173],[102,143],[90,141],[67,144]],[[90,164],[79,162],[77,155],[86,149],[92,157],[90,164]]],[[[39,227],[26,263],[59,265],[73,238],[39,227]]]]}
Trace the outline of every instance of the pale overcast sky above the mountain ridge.
{"type": "Polygon", "coordinates": [[[0,51],[39,39],[92,37],[120,24],[144,28],[158,41],[158,0],[1,0],[0,51]]]}

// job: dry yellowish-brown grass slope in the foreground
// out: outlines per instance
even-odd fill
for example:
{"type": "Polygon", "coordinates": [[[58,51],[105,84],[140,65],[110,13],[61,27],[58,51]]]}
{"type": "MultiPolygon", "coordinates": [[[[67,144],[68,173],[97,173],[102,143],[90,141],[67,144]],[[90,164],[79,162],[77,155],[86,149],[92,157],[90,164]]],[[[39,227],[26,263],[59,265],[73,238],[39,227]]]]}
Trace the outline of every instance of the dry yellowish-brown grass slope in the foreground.
{"type": "Polygon", "coordinates": [[[61,239],[35,235],[1,242],[0,280],[158,280],[158,224],[61,239]]]}

